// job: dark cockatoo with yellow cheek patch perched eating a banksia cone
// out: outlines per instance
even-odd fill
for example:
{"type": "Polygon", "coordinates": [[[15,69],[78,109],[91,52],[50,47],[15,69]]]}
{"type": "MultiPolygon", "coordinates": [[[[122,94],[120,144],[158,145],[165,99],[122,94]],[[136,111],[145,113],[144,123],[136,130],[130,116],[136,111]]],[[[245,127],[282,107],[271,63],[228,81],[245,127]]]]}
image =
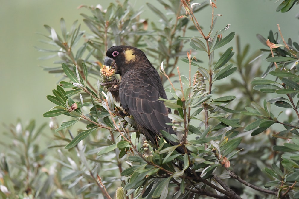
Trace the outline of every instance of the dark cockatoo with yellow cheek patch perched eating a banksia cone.
{"type": "MultiPolygon", "coordinates": [[[[145,53],[132,46],[112,46],[106,52],[105,65],[114,66],[121,81],[110,89],[115,100],[126,113],[132,115],[137,130],[150,142],[158,144],[160,130],[176,134],[168,114],[171,113],[162,100],[167,99],[161,78],[145,53]]],[[[167,140],[171,145],[179,143],[167,140]]],[[[177,150],[184,153],[181,147],[177,150]]]]}

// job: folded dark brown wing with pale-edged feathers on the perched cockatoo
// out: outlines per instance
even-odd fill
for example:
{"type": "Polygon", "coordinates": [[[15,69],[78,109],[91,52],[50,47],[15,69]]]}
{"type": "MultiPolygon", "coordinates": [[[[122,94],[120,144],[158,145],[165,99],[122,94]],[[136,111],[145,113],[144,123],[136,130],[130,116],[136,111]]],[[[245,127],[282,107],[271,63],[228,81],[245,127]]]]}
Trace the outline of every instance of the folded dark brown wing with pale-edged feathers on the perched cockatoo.
{"type": "Polygon", "coordinates": [[[160,130],[173,131],[170,125],[166,125],[171,122],[169,110],[159,97],[167,97],[157,76],[155,70],[130,70],[122,77],[119,95],[123,108],[129,111],[138,125],[160,135],[160,130]]]}

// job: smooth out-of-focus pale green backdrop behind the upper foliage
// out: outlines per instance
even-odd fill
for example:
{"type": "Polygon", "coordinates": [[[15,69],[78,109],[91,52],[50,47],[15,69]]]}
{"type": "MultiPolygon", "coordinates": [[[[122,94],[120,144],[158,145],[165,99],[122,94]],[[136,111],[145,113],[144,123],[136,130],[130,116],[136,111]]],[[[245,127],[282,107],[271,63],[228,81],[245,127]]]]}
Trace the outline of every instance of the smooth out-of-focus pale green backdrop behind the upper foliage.
{"type": "MultiPolygon", "coordinates": [[[[77,9],[81,4],[94,5],[101,4],[105,9],[110,2],[96,0],[15,0],[1,1],[0,7],[0,61],[1,61],[1,115],[0,134],[4,131],[3,123],[16,123],[21,119],[26,123],[30,119],[36,119],[38,124],[48,122],[48,118],[43,118],[42,114],[48,111],[53,104],[46,99],[46,95],[52,94],[52,89],[56,87],[59,80],[53,74],[42,71],[40,66],[53,66],[55,60],[39,60],[39,57],[48,54],[38,52],[34,46],[44,47],[40,40],[44,39],[41,32],[48,34],[44,24],[47,24],[57,32],[60,32],[60,18],[63,17],[67,27],[78,19],[82,24],[81,30],[90,33],[82,22],[80,13],[90,15],[85,9],[77,9]]],[[[158,1],[151,0],[129,0],[135,5],[136,10],[144,6],[142,18],[149,21],[159,21],[146,6],[146,2],[154,4],[156,7],[163,7],[158,1]]],[[[202,1],[196,1],[201,3],[202,1]]],[[[287,13],[277,13],[275,11],[279,3],[269,0],[218,0],[215,14],[222,14],[218,17],[215,29],[222,29],[223,24],[231,24],[229,32],[236,32],[241,38],[242,46],[251,44],[251,52],[263,48],[264,46],[257,40],[259,33],[265,38],[269,30],[277,32],[277,23],[280,24],[283,36],[298,39],[298,19],[295,15],[298,6],[294,6],[287,13]]],[[[210,7],[206,7],[199,15],[199,23],[204,30],[210,26],[210,7]],[[202,16],[202,17],[200,17],[202,16]]],[[[150,28],[150,27],[149,27],[150,28]]],[[[194,32],[193,32],[194,33],[194,32]]],[[[192,35],[193,33],[189,33],[192,35]]],[[[226,34],[226,33],[225,33],[226,34]]],[[[225,49],[223,49],[224,51],[225,49]]],[[[263,67],[266,69],[267,65],[263,67]]]]}

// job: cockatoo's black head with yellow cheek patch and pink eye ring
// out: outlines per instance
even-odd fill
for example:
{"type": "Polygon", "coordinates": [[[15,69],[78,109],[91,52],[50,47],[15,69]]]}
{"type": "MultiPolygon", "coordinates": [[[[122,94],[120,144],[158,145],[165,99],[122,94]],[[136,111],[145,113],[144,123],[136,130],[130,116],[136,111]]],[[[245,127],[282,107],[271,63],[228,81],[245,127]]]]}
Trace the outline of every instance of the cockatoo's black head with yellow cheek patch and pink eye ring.
{"type": "Polygon", "coordinates": [[[138,67],[140,60],[148,61],[143,51],[132,46],[112,46],[107,50],[106,56],[105,65],[114,66],[115,74],[120,75],[138,67]]]}

